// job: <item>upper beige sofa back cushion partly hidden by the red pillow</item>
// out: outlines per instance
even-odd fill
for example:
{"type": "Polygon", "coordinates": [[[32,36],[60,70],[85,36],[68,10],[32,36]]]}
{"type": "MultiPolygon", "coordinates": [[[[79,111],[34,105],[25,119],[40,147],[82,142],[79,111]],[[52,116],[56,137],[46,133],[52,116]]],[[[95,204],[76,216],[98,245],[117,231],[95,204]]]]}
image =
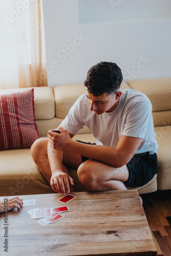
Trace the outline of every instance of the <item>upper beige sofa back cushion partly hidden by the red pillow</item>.
{"type": "MultiPolygon", "coordinates": [[[[31,88],[10,89],[10,92],[21,92],[31,88]]],[[[1,94],[9,93],[9,89],[0,90],[1,94]]],[[[35,119],[51,119],[55,116],[55,100],[53,88],[34,87],[34,109],[35,119]]]]}

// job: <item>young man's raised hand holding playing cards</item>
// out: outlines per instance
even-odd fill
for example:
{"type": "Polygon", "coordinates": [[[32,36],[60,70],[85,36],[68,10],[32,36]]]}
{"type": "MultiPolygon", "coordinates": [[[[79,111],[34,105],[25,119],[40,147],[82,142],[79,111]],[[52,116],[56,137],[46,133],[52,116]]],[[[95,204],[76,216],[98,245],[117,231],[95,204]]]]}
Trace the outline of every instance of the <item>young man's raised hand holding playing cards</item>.
{"type": "Polygon", "coordinates": [[[51,130],[48,132],[48,138],[51,147],[55,150],[64,151],[67,149],[68,143],[71,141],[70,134],[67,130],[60,127],[61,134],[52,132],[51,130]]]}

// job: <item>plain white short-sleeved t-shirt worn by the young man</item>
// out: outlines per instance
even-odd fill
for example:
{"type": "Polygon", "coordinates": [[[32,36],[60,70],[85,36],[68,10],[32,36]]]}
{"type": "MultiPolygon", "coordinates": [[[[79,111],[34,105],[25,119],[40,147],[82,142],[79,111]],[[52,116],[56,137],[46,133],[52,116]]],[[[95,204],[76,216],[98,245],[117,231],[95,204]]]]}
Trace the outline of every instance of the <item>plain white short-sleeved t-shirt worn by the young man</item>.
{"type": "Polygon", "coordinates": [[[98,145],[116,147],[121,135],[142,138],[135,154],[157,153],[151,101],[143,93],[132,89],[121,92],[116,109],[101,115],[91,111],[86,94],[81,95],[61,125],[71,134],[76,134],[87,125],[98,145]]]}

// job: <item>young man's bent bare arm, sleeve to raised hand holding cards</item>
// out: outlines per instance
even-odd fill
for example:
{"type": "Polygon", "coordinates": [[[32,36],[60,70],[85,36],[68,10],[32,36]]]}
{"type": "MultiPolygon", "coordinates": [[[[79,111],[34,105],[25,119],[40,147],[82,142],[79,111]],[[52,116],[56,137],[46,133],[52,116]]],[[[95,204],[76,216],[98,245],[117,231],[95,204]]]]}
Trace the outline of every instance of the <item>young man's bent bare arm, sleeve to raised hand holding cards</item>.
{"type": "Polygon", "coordinates": [[[70,151],[114,167],[121,167],[131,160],[141,142],[142,138],[122,135],[115,148],[103,145],[89,145],[72,140],[68,132],[62,130],[62,134],[58,134],[55,139],[52,138],[51,146],[58,150],[70,151]],[[60,141],[62,141],[62,144],[60,144],[60,141]]]}

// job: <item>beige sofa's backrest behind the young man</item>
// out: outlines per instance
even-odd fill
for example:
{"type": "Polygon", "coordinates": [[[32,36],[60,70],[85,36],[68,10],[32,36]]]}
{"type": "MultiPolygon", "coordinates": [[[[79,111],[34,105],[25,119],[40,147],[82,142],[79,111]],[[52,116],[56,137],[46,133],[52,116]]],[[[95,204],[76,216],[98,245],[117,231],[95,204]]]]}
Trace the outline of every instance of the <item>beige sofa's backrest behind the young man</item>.
{"type": "MultiPolygon", "coordinates": [[[[171,77],[131,80],[121,83],[121,90],[134,89],[144,93],[152,102],[154,126],[171,125],[171,77]]],[[[16,88],[0,90],[0,94],[29,90],[16,88]]],[[[78,97],[85,93],[83,83],[65,84],[54,88],[34,88],[35,118],[39,136],[47,136],[50,129],[58,127],[78,97]]],[[[83,127],[79,134],[91,133],[83,127]]]]}

